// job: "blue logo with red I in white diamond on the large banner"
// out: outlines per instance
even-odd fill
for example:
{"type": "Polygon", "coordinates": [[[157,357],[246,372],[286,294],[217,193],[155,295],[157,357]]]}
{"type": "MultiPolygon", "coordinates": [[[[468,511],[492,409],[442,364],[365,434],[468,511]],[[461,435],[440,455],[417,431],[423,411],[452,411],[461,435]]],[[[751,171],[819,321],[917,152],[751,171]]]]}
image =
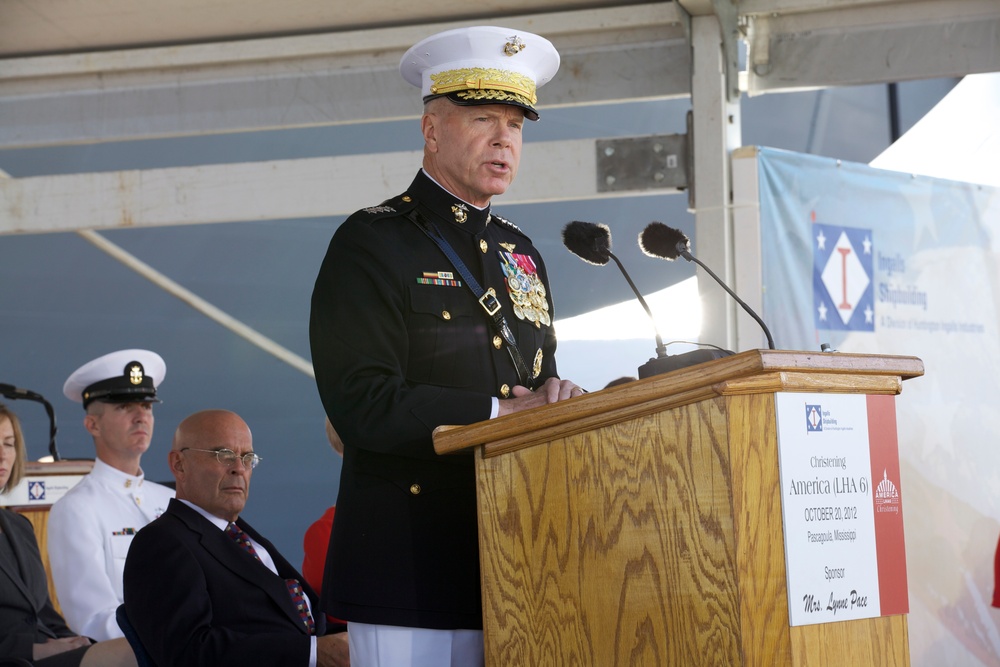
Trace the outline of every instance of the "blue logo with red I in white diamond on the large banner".
{"type": "Polygon", "coordinates": [[[874,331],[871,230],[822,224],[812,230],[816,328],[874,331]]]}

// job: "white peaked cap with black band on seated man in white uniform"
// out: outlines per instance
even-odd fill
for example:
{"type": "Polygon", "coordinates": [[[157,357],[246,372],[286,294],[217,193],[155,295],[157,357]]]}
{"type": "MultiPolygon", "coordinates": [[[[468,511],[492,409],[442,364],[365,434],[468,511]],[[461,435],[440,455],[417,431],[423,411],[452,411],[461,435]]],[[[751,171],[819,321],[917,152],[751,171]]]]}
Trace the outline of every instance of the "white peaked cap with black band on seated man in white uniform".
{"type": "Polygon", "coordinates": [[[167,374],[167,364],[156,352],[119,350],[89,361],[73,371],[63,385],[71,401],[108,403],[159,403],[156,387],[167,374]]]}

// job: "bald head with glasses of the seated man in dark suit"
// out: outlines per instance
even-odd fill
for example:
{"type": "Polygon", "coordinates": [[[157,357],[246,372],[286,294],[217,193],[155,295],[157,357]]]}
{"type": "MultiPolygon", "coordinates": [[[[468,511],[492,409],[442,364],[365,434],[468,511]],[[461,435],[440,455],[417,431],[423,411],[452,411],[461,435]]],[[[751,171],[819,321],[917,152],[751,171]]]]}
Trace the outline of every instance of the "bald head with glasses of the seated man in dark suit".
{"type": "Polygon", "coordinates": [[[177,427],[168,461],[178,499],[235,521],[250,493],[252,469],[240,459],[221,462],[215,452],[223,449],[237,457],[253,453],[250,427],[235,412],[204,410],[177,427]]]}

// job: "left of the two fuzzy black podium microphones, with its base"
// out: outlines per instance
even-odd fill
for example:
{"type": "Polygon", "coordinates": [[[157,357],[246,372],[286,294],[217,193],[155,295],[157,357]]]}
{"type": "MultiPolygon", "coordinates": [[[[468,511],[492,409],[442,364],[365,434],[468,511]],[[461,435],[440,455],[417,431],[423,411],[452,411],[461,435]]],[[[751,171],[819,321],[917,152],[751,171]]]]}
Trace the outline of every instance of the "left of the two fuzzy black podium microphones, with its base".
{"type": "Polygon", "coordinates": [[[604,266],[608,263],[608,260],[615,260],[615,264],[618,265],[622,275],[625,276],[625,280],[628,281],[629,287],[632,288],[639,303],[642,304],[646,314],[649,315],[649,319],[653,323],[653,331],[656,332],[656,356],[639,367],[638,373],[640,379],[732,354],[728,350],[693,350],[684,354],[673,355],[666,353],[667,346],[663,344],[663,338],[656,327],[652,311],[646,304],[646,300],[642,297],[639,289],[635,286],[635,283],[632,282],[632,278],[628,275],[628,271],[625,270],[624,265],[611,252],[611,230],[607,225],[595,222],[570,222],[563,228],[563,245],[571,253],[590,264],[604,266]]]}

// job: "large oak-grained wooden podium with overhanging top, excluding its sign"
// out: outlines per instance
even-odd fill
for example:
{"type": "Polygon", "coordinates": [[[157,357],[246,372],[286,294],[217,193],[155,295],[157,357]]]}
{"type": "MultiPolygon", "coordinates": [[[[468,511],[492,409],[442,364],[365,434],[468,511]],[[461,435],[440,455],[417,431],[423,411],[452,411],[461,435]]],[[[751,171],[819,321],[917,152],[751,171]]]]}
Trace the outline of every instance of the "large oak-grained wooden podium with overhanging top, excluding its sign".
{"type": "Polygon", "coordinates": [[[438,429],[475,448],[486,664],[908,665],[905,615],[789,625],[775,393],[922,374],[752,350],[438,429]]]}

